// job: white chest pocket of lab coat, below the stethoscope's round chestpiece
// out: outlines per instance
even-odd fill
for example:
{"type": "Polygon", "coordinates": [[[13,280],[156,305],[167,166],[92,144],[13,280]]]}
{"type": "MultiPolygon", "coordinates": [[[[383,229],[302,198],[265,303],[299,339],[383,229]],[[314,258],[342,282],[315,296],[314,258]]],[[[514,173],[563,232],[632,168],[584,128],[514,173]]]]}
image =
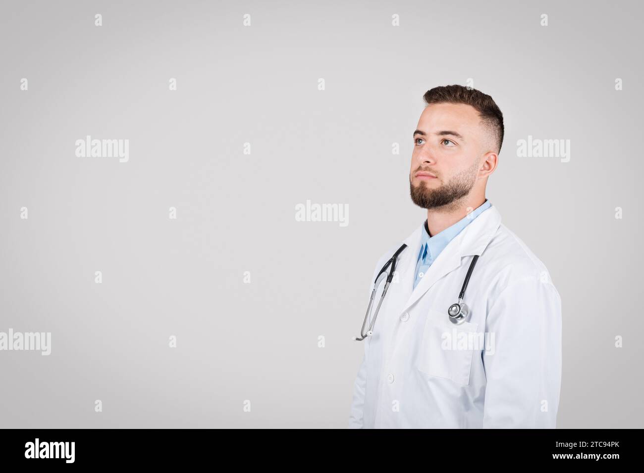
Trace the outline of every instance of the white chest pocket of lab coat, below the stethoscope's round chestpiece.
{"type": "Polygon", "coordinates": [[[431,376],[469,384],[469,371],[475,352],[471,335],[474,335],[477,327],[471,322],[451,323],[447,309],[444,312],[430,309],[416,367],[431,376]]]}

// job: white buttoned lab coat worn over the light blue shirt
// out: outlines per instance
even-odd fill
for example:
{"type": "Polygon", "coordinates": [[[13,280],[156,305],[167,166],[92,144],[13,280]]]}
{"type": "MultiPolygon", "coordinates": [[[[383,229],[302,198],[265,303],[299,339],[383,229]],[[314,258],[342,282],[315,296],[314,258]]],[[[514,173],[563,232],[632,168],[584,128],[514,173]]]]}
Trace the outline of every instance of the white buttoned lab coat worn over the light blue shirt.
{"type": "MultiPolygon", "coordinates": [[[[492,206],[450,241],[413,289],[424,231],[423,223],[404,240],[374,335],[359,342],[365,355],[349,427],[554,428],[562,313],[544,264],[492,206]],[[473,255],[480,256],[463,299],[470,315],[455,326],[447,310],[473,255]]],[[[379,259],[372,286],[400,245],[379,259]]]]}

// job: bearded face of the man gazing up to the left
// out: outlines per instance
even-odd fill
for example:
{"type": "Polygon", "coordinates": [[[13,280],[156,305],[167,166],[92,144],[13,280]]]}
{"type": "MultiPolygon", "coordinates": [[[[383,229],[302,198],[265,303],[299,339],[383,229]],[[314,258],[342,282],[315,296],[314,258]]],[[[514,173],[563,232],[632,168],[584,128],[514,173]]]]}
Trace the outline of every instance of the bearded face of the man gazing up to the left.
{"type": "Polygon", "coordinates": [[[413,134],[410,193],[423,209],[443,207],[469,194],[488,136],[478,112],[466,104],[425,107],[413,134]]]}

